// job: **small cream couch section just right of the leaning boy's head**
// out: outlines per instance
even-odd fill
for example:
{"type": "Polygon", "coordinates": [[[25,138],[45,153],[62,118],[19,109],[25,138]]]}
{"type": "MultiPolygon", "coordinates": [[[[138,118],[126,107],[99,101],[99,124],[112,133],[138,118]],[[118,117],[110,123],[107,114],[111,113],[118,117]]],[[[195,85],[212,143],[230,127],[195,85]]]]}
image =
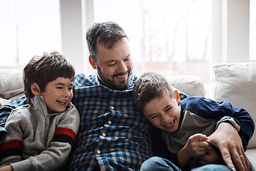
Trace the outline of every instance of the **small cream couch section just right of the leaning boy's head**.
{"type": "Polygon", "coordinates": [[[187,95],[205,97],[205,86],[198,76],[173,76],[169,83],[187,95]]]}

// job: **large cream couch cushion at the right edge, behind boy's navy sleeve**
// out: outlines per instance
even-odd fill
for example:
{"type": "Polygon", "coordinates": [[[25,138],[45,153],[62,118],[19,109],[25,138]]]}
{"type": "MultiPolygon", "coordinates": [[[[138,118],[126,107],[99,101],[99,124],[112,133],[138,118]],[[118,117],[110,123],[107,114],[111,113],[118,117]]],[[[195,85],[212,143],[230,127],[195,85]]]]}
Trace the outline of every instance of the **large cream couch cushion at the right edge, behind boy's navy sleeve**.
{"type": "MultiPolygon", "coordinates": [[[[256,63],[233,63],[213,66],[212,95],[216,101],[227,101],[245,108],[256,120],[256,63]]],[[[248,148],[256,147],[256,135],[248,148]]]]}

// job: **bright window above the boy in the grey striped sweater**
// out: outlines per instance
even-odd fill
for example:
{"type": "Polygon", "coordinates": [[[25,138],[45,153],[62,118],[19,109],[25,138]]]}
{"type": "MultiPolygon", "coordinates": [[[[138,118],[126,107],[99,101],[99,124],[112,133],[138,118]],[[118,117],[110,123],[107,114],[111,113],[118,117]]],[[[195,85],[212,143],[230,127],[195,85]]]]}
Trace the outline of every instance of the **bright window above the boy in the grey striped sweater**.
{"type": "Polygon", "coordinates": [[[58,0],[0,1],[0,68],[24,68],[34,55],[60,51],[58,0]]]}

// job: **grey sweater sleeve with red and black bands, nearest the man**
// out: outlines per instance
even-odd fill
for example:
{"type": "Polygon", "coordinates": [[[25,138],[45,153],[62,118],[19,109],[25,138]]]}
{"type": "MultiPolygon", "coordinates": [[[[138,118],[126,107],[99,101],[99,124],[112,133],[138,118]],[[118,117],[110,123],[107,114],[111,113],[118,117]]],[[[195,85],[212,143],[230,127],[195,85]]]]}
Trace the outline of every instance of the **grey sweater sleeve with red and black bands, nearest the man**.
{"type": "Polygon", "coordinates": [[[74,105],[57,125],[54,140],[39,155],[11,164],[15,170],[57,170],[67,162],[79,128],[79,113],[74,105]]]}

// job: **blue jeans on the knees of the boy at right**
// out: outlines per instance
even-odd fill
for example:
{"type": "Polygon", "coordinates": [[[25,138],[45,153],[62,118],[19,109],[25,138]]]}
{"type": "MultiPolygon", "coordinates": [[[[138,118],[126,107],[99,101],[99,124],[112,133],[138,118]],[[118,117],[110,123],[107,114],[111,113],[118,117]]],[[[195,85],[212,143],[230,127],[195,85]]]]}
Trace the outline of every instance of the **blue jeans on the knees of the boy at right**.
{"type": "MultiPolygon", "coordinates": [[[[140,171],[182,171],[167,159],[162,157],[151,157],[142,163],[140,171]]],[[[197,167],[192,171],[232,171],[230,167],[226,165],[204,165],[197,167]]]]}

